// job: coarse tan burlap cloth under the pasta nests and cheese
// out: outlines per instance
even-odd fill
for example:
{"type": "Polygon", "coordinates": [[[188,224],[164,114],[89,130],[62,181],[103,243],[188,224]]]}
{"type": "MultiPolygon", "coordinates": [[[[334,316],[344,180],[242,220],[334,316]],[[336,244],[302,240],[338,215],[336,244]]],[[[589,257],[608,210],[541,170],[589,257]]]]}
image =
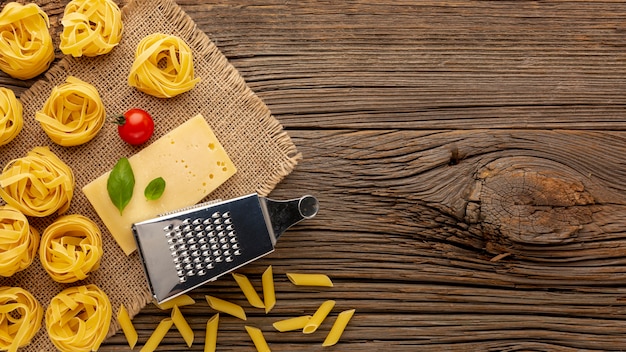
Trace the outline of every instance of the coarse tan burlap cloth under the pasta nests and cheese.
{"type": "MultiPolygon", "coordinates": [[[[84,145],[61,147],[54,144],[34,119],[52,87],[73,75],[98,89],[107,115],[123,113],[131,107],[149,111],[156,123],[152,140],[188,118],[203,114],[238,169],[235,176],[206,200],[227,199],[255,191],[267,195],[293,170],[301,157],[267,106],[177,4],[170,0],[132,0],[122,11],[124,35],[119,46],[96,58],[67,56],[52,67],[44,79],[21,96],[25,119],[23,131],[11,143],[0,147],[2,167],[10,160],[26,155],[35,146],[49,146],[72,168],[76,187],[68,214],[83,214],[95,220],[103,232],[104,242],[100,269],[87,280],[73,285],[94,283],[107,293],[114,316],[109,336],[118,329],[115,314],[120,304],[123,303],[134,316],[151,301],[151,297],[137,253],[124,255],[81,188],[110,170],[120,157],[131,156],[141,147],[122,142],[117,136],[117,126],[112,123],[105,124],[96,138],[84,145]],[[154,32],[177,35],[192,48],[195,73],[201,81],[190,92],[171,99],[159,99],[126,83],[137,43],[154,32]]],[[[0,204],[4,203],[0,201],[0,204]]],[[[41,232],[54,218],[29,220],[41,232]]],[[[1,279],[0,284],[29,290],[44,308],[54,295],[72,286],[54,282],[41,267],[39,258],[25,271],[1,279]]],[[[53,351],[55,348],[42,327],[25,350],[53,351]]]]}

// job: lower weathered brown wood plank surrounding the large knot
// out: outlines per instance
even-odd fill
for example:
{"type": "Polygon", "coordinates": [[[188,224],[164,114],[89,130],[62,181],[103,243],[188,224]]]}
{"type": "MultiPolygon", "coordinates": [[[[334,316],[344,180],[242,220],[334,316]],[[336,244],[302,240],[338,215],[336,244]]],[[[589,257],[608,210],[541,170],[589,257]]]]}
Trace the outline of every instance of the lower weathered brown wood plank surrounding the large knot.
{"type": "MultiPolygon", "coordinates": [[[[626,135],[526,130],[291,133],[305,158],[274,195],[315,194],[320,214],[287,232],[276,252],[242,270],[259,288],[260,274],[273,265],[278,304],[270,315],[249,308],[230,278],[194,292],[199,308],[183,311],[201,341],[202,324],[214,313],[202,297],[211,294],[247,307],[245,324],[262,327],[273,350],[322,350],[319,336],[279,334],[271,323],[310,313],[325,299],[358,312],[342,351],[615,350],[626,342],[621,336],[626,318],[621,175],[626,169],[618,162],[611,169],[598,167],[603,155],[622,155],[626,135]],[[454,149],[458,159],[451,163],[454,149]],[[526,242],[520,241],[523,236],[511,241],[506,238],[511,232],[502,228],[485,230],[489,224],[481,219],[494,215],[494,208],[485,207],[484,192],[468,189],[475,189],[477,182],[489,185],[490,177],[496,177],[480,176],[484,170],[506,173],[506,167],[488,166],[509,165],[510,159],[514,170],[546,175],[556,187],[535,193],[503,188],[510,199],[534,194],[527,206],[569,211],[561,198],[546,201],[550,198],[541,195],[588,192],[594,203],[572,208],[593,208],[589,222],[567,238],[536,227],[541,230],[537,235],[550,239],[540,244],[532,236],[526,242]],[[568,178],[584,187],[571,189],[568,178]],[[473,210],[481,215],[470,218],[462,210],[472,199],[483,201],[473,210]],[[502,250],[510,255],[492,261],[502,250]],[[294,287],[284,277],[289,270],[328,273],[335,287],[294,287]]],[[[533,191],[541,184],[528,182],[527,187],[533,191]]],[[[529,226],[528,233],[532,230],[529,226]]],[[[137,317],[142,336],[149,335],[158,313],[147,308],[137,317]]],[[[242,324],[225,318],[220,328],[223,348],[250,346],[242,324]]],[[[111,341],[119,341],[115,339],[111,341]]],[[[166,343],[171,344],[166,350],[174,350],[182,339],[174,332],[166,343]]]]}

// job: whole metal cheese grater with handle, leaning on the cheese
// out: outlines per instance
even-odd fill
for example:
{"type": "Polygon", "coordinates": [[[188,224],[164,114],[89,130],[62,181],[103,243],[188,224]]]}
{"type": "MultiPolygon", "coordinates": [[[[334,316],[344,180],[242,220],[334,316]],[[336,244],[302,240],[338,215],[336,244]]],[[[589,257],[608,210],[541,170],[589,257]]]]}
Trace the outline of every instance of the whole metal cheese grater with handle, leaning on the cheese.
{"type": "Polygon", "coordinates": [[[317,214],[313,196],[249,194],[133,224],[152,295],[161,303],[274,251],[278,237],[317,214]]]}

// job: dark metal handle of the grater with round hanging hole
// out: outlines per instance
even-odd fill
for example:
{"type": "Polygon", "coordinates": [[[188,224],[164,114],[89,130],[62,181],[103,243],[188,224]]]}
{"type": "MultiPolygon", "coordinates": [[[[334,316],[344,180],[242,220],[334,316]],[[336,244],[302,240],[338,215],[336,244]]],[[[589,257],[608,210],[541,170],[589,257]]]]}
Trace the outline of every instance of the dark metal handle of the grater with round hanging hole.
{"type": "Polygon", "coordinates": [[[261,199],[272,223],[275,239],[278,239],[291,226],[314,217],[319,210],[317,199],[310,195],[290,200],[273,200],[264,197],[261,199]]]}

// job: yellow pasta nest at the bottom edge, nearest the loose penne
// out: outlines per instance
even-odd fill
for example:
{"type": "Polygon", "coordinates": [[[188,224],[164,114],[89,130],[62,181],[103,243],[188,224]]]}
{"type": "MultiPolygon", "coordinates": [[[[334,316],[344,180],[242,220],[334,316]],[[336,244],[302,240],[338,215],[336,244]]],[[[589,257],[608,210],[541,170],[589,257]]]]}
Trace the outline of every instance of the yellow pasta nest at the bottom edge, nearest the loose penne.
{"type": "Polygon", "coordinates": [[[94,284],[66,288],[46,310],[46,329],[61,351],[97,351],[109,331],[112,308],[94,284]]]}

